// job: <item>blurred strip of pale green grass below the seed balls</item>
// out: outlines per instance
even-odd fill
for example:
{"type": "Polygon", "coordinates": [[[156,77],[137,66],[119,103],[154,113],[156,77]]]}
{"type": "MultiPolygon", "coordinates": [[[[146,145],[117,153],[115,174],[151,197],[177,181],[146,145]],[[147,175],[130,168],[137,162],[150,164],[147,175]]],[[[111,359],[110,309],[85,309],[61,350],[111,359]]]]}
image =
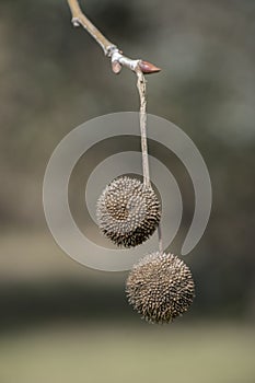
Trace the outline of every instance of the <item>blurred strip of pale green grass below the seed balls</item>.
{"type": "Polygon", "coordinates": [[[254,328],[66,325],[0,339],[3,383],[252,383],[254,328]]]}

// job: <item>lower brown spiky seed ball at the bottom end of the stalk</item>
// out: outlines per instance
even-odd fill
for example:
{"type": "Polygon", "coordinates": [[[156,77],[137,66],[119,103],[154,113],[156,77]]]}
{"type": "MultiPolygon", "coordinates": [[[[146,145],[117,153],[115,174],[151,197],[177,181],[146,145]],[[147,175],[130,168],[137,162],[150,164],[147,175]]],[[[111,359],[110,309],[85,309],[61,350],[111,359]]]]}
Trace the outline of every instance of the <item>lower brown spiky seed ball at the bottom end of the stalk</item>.
{"type": "Polygon", "coordinates": [[[134,266],[126,292],[142,318],[163,324],[187,311],[195,297],[195,285],[183,260],[173,254],[153,253],[134,266]]]}

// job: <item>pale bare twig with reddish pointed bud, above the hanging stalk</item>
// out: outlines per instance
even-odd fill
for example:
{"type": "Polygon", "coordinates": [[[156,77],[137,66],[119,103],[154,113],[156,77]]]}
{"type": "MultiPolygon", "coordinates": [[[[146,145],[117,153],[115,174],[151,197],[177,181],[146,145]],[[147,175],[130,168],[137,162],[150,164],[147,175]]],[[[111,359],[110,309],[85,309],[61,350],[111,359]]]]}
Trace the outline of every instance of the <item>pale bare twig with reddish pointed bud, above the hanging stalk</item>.
{"type": "Polygon", "coordinates": [[[112,69],[114,73],[119,73],[123,66],[127,67],[128,69],[131,69],[132,71],[140,69],[144,74],[155,73],[161,70],[151,62],[141,59],[131,59],[129,57],[124,56],[123,51],[115,44],[109,42],[85,16],[78,3],[78,0],[67,1],[72,14],[72,24],[74,26],[83,26],[96,40],[96,43],[103,49],[105,56],[111,58],[112,69]]]}

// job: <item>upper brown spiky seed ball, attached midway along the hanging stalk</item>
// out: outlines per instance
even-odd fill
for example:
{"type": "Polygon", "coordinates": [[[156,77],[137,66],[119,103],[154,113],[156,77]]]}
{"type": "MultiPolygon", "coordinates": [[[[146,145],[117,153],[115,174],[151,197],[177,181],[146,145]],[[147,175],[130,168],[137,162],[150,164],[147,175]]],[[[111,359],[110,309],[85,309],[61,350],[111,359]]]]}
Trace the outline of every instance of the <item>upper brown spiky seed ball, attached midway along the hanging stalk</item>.
{"type": "Polygon", "coordinates": [[[96,216],[106,237],[118,246],[135,247],[155,231],[161,218],[160,202],[151,187],[124,176],[103,190],[96,216]]]}

